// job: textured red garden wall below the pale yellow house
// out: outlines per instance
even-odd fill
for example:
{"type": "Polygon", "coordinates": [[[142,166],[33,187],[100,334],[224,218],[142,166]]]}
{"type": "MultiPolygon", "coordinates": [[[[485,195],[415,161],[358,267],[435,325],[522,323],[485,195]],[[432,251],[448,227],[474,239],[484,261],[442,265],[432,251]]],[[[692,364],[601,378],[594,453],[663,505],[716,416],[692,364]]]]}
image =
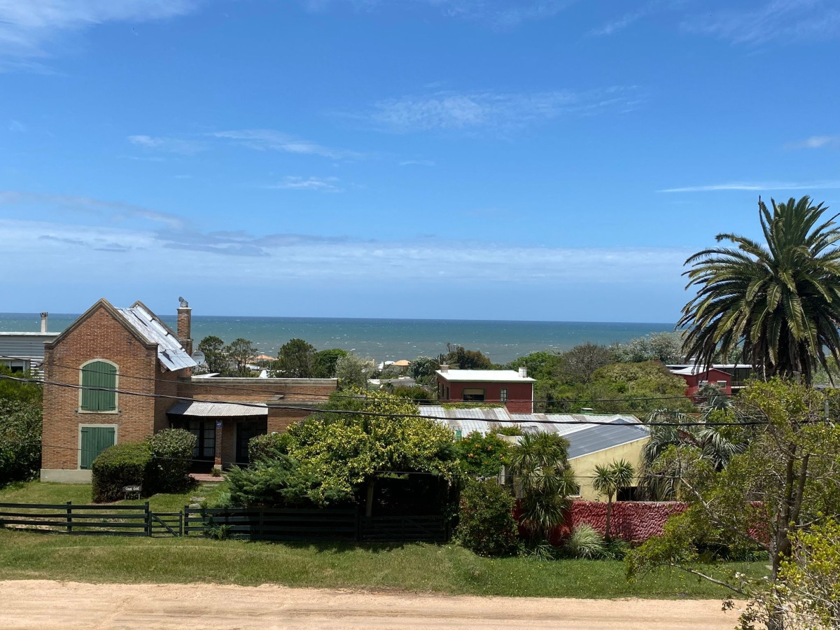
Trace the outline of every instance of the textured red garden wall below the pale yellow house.
{"type": "MultiPolygon", "coordinates": [[[[685,512],[688,505],[677,501],[617,501],[612,504],[610,530],[613,538],[628,543],[641,543],[659,536],[671,514],[685,512]]],[[[573,501],[564,525],[554,530],[552,542],[569,536],[571,528],[586,523],[602,534],[606,533],[605,501],[573,501]]]]}

